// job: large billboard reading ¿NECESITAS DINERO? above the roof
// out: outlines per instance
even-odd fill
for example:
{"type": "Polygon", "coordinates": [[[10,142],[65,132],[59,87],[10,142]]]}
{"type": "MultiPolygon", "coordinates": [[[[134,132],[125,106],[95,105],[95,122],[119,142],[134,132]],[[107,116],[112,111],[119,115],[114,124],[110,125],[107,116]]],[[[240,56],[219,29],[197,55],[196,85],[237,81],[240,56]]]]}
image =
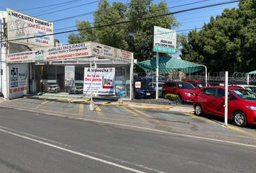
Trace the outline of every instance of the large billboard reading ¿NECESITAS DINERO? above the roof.
{"type": "Polygon", "coordinates": [[[27,14],[15,12],[12,9],[7,9],[7,30],[9,42],[25,45],[54,46],[54,35],[49,35],[54,33],[53,22],[47,22],[27,14]],[[33,38],[25,39],[27,37],[33,38]]]}

